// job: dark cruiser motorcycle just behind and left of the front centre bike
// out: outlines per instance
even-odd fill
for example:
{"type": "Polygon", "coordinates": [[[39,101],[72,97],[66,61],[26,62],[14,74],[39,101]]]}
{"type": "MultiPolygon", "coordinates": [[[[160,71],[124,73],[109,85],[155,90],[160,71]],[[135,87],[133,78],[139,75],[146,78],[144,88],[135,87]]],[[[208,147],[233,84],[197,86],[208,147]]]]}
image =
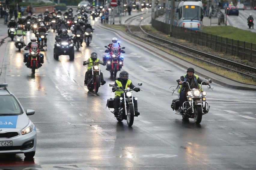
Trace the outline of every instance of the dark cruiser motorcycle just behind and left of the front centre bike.
{"type": "Polygon", "coordinates": [[[88,76],[87,89],[94,90],[95,93],[97,93],[99,90],[100,84],[101,84],[100,68],[99,68],[98,64],[102,64],[102,63],[98,63],[95,61],[90,62],[90,63],[86,63],[86,61],[84,61],[84,63],[85,63],[84,65],[88,65],[88,64],[92,63],[92,68],[90,69],[90,74],[88,76]]]}

